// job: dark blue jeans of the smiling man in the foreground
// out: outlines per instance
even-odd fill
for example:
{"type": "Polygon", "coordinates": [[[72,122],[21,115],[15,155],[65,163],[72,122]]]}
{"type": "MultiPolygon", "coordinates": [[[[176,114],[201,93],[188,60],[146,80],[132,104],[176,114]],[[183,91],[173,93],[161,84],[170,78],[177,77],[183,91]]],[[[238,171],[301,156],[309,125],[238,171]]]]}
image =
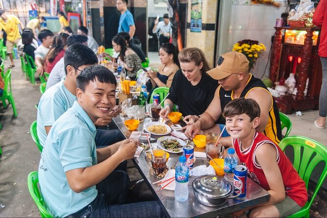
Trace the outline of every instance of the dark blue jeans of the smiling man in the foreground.
{"type": "Polygon", "coordinates": [[[96,185],[98,196],[82,210],[68,217],[164,217],[156,201],[124,204],[129,178],[114,171],[96,185]]]}

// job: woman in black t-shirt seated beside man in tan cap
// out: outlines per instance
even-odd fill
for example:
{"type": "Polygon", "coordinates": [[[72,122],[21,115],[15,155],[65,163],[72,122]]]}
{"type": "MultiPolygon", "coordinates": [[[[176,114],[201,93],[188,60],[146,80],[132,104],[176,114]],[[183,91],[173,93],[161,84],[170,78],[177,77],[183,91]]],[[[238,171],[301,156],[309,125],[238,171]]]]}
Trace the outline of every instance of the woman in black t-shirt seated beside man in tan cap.
{"type": "Polygon", "coordinates": [[[183,116],[199,116],[210,105],[218,81],[206,73],[210,68],[199,48],[184,48],[178,54],[178,60],[181,69],[174,76],[160,116],[167,118],[174,104],[183,116]]]}

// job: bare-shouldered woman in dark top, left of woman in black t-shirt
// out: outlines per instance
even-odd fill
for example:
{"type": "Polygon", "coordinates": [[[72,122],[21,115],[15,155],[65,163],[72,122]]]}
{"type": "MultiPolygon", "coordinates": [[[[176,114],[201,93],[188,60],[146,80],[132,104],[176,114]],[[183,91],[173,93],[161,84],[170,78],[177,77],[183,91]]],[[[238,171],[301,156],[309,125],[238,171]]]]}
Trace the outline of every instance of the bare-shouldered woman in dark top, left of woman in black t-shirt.
{"type": "Polygon", "coordinates": [[[159,67],[158,72],[149,70],[147,73],[147,76],[150,77],[150,80],[146,83],[149,96],[151,96],[153,89],[157,87],[169,88],[175,73],[179,70],[177,49],[173,44],[165,43],[160,46],[159,59],[162,65],[159,67]]]}

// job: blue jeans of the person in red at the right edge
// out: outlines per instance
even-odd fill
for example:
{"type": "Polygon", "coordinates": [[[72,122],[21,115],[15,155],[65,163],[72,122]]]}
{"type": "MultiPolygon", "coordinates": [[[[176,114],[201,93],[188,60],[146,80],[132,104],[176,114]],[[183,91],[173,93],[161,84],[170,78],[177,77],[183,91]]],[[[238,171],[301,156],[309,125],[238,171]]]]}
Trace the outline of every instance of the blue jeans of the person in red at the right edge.
{"type": "Polygon", "coordinates": [[[327,116],[327,58],[320,57],[321,65],[323,67],[323,80],[319,95],[319,116],[327,116]]]}

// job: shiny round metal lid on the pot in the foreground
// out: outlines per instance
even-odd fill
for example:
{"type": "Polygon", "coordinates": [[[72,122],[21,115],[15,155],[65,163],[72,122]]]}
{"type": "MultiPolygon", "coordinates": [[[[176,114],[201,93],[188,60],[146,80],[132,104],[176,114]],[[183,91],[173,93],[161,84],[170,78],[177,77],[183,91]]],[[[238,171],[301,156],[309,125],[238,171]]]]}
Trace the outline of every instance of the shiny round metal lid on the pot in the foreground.
{"type": "Polygon", "coordinates": [[[229,196],[233,191],[231,182],[217,175],[202,175],[192,182],[194,191],[210,198],[229,196]]]}

